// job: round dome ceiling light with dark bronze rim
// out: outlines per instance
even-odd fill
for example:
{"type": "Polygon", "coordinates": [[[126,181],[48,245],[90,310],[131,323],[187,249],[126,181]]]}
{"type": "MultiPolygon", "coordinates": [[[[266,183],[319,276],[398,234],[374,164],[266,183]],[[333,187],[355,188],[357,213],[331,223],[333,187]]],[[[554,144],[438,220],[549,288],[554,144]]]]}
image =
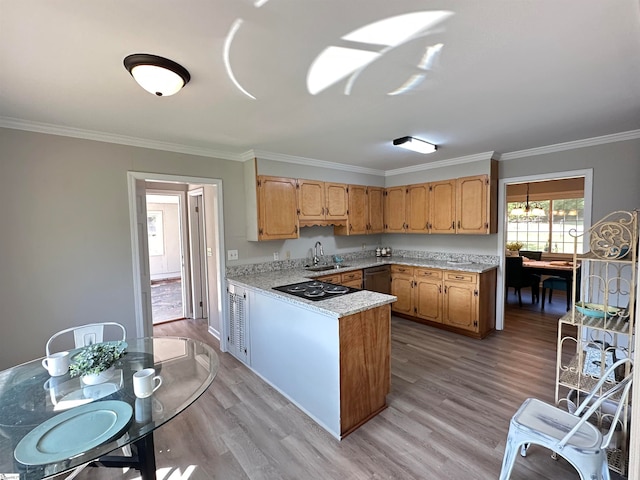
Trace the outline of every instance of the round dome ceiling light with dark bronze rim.
{"type": "Polygon", "coordinates": [[[179,92],[191,80],[191,75],[182,65],[147,53],[125,57],[124,67],[142,88],[159,97],[179,92]]]}

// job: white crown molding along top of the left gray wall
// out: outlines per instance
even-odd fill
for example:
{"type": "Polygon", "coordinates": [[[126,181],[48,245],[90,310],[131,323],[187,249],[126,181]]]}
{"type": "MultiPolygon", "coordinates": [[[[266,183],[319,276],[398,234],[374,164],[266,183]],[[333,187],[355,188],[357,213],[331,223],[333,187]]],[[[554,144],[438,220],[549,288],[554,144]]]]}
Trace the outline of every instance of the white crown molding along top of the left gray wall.
{"type": "Polygon", "coordinates": [[[26,130],[29,132],[46,133],[63,137],[81,138],[84,140],[94,140],[97,142],[116,143],[132,147],[150,148],[153,150],[163,150],[167,152],[184,153],[187,155],[197,155],[200,157],[219,158],[222,160],[243,161],[242,154],[229,152],[226,150],[215,150],[211,148],[199,148],[178,143],[160,142],[144,138],[128,137],[126,135],[116,135],[111,133],[98,132],[94,130],[84,130],[81,128],[63,127],[50,123],[29,122],[11,117],[0,117],[0,127],[12,128],[14,130],[26,130]]]}

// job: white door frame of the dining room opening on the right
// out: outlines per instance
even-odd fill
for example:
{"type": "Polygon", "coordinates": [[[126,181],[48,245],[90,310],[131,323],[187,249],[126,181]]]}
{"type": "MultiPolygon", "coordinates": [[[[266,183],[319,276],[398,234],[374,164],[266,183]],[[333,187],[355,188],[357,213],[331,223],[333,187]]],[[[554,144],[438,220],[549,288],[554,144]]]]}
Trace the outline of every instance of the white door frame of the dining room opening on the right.
{"type": "Polygon", "coordinates": [[[591,227],[591,201],[593,197],[593,169],[571,170],[567,172],[542,173],[525,177],[501,178],[498,182],[498,268],[496,289],[496,330],[504,329],[504,264],[505,244],[507,237],[507,185],[511,183],[540,182],[545,180],[559,180],[562,178],[584,177],[584,228],[591,227]]]}

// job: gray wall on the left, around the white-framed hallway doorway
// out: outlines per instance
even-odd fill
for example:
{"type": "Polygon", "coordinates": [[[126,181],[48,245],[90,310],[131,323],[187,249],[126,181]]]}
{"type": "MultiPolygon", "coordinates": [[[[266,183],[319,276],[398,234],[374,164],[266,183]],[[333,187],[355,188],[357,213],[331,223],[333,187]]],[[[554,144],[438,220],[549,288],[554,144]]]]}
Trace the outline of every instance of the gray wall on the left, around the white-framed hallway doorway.
{"type": "MultiPolygon", "coordinates": [[[[136,333],[127,171],[242,184],[239,162],[0,129],[0,369],[42,356],[71,325],[136,333]]],[[[241,238],[243,189],[224,197],[225,231],[241,238]]]]}

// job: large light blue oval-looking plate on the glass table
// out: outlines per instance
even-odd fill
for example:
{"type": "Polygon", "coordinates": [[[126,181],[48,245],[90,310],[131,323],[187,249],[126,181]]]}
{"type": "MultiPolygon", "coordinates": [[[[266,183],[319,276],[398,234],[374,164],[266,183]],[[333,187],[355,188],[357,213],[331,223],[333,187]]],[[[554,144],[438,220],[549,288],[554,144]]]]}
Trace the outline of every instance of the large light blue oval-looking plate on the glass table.
{"type": "Polygon", "coordinates": [[[131,421],[133,408],[105,400],[67,410],[27,433],[13,452],[24,465],[45,465],[80,455],[117,437],[131,421]]]}

